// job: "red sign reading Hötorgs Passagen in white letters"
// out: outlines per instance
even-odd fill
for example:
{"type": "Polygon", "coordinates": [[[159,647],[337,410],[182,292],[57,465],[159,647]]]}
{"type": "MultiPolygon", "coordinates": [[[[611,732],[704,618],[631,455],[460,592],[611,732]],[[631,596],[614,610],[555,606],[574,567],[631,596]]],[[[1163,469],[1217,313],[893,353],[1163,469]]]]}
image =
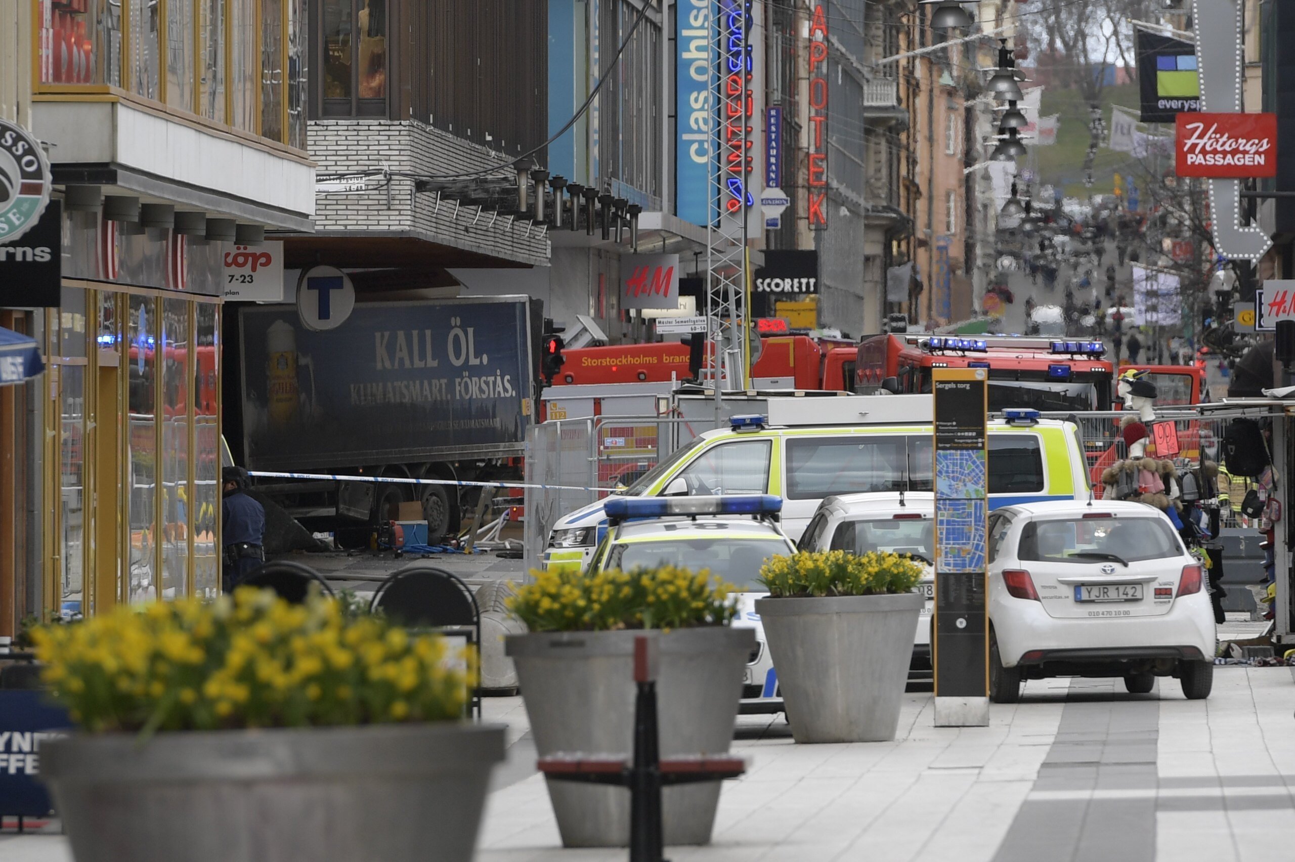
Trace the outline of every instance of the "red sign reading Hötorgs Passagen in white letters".
{"type": "Polygon", "coordinates": [[[1178,114],[1178,176],[1277,176],[1277,114],[1178,114]]]}

